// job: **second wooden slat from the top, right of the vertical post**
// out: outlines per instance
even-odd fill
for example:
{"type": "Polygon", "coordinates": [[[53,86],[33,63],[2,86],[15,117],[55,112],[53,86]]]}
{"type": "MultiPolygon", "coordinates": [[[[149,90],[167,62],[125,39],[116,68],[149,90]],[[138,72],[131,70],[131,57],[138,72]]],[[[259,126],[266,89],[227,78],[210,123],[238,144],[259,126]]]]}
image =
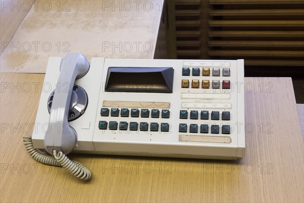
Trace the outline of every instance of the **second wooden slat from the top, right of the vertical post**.
{"type": "Polygon", "coordinates": [[[210,10],[210,16],[303,16],[303,9],[220,9],[210,10]]]}

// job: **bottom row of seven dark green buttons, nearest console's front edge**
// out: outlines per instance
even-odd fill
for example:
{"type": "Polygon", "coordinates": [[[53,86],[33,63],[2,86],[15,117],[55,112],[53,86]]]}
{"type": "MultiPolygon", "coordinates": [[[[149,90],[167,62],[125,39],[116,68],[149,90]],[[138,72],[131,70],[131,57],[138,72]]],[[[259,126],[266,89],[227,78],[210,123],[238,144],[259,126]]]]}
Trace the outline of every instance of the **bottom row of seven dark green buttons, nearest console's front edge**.
{"type": "MultiPolygon", "coordinates": [[[[119,125],[116,121],[99,121],[98,128],[101,130],[107,129],[107,124],[109,124],[110,130],[117,130],[119,127],[120,130],[128,130],[128,122],[121,121],[119,125]]],[[[160,123],[161,131],[168,132],[169,131],[169,123],[160,123]]],[[[139,130],[140,131],[148,131],[149,124],[147,122],[140,122],[139,123],[139,130]]],[[[137,122],[130,122],[129,123],[129,130],[137,131],[138,130],[138,123],[137,122]]],[[[150,131],[159,131],[159,124],[151,122],[150,123],[150,131]]]]}

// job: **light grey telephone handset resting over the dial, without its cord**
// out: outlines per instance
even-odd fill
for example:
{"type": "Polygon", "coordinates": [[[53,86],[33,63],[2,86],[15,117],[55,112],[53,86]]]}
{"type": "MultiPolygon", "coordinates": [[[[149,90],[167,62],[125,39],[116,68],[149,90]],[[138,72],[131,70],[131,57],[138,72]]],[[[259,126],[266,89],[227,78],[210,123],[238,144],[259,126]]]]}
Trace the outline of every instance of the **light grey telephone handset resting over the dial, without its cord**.
{"type": "Polygon", "coordinates": [[[81,53],[69,53],[61,61],[48,130],[44,137],[45,148],[50,154],[53,154],[53,149],[68,154],[77,142],[77,134],[67,121],[68,110],[75,80],[84,77],[89,69],[89,61],[81,53]]]}

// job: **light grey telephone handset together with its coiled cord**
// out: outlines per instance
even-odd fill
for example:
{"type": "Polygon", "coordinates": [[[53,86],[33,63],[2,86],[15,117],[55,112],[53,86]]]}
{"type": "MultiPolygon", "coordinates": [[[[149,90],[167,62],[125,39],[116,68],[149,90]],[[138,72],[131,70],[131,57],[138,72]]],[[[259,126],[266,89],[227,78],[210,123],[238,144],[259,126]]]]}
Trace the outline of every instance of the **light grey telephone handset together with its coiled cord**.
{"type": "Polygon", "coordinates": [[[73,105],[71,97],[74,94],[74,82],[84,77],[89,69],[89,61],[81,53],[69,53],[61,61],[56,89],[50,96],[52,99],[49,101],[49,125],[44,137],[46,151],[54,156],[41,154],[33,147],[31,138],[24,137],[27,151],[36,161],[65,167],[70,173],[83,180],[89,180],[91,172],[82,163],[69,160],[65,154],[70,153],[77,143],[77,133],[68,124],[69,109],[73,105]]]}

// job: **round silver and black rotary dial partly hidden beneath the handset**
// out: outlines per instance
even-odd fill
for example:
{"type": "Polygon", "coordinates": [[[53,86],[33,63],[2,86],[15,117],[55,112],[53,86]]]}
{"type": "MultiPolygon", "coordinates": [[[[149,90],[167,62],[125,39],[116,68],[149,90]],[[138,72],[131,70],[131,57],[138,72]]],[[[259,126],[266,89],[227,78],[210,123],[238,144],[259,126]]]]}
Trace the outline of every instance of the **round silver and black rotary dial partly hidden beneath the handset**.
{"type": "MultiPolygon", "coordinates": [[[[53,104],[53,97],[56,90],[54,90],[49,98],[48,98],[48,111],[51,112],[52,104],[53,104]]],[[[68,110],[68,121],[73,121],[78,119],[81,115],[84,114],[86,108],[88,106],[88,95],[87,92],[79,85],[73,86],[71,101],[68,110]]]]}

